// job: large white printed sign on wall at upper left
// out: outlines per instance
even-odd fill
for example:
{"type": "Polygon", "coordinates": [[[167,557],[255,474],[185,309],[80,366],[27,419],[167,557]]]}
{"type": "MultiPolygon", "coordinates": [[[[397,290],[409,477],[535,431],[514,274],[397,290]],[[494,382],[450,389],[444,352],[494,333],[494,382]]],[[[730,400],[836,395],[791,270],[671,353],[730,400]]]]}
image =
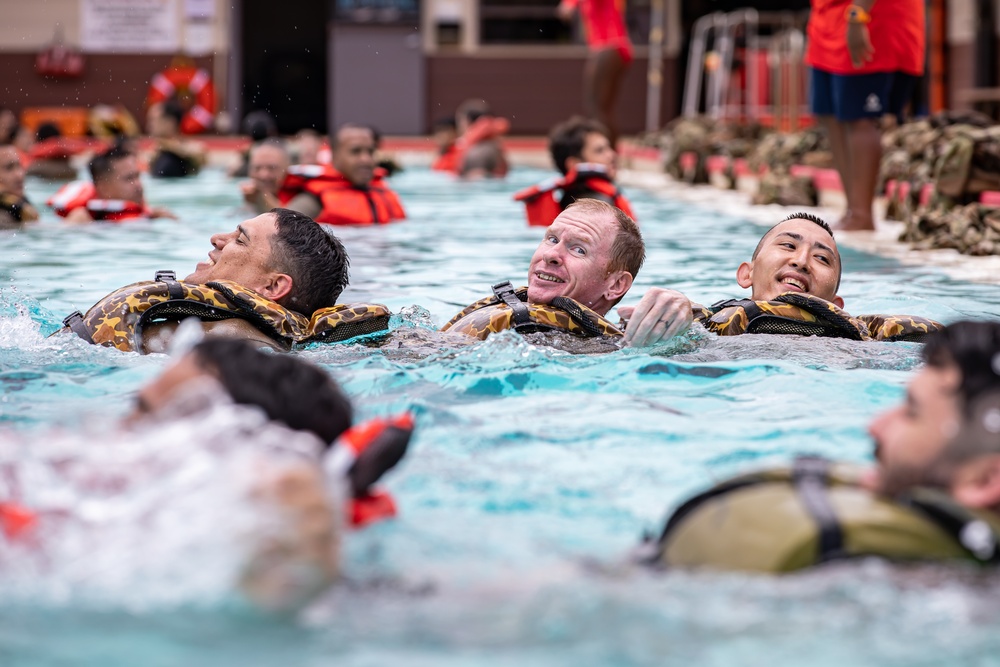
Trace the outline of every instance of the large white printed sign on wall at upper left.
{"type": "Polygon", "coordinates": [[[100,53],[173,53],[177,0],[80,0],[80,45],[100,53]]]}

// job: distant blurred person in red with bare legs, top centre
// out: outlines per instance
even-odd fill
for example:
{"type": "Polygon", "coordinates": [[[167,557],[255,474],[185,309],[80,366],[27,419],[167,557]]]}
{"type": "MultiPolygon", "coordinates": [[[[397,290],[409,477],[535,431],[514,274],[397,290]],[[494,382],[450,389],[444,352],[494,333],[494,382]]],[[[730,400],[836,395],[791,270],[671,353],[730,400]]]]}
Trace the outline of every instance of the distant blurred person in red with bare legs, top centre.
{"type": "Polygon", "coordinates": [[[615,99],[632,62],[632,42],[625,27],[625,0],[562,0],[559,17],[573,18],[579,9],[590,57],[583,71],[584,112],[608,128],[611,147],[618,142],[615,99]]]}

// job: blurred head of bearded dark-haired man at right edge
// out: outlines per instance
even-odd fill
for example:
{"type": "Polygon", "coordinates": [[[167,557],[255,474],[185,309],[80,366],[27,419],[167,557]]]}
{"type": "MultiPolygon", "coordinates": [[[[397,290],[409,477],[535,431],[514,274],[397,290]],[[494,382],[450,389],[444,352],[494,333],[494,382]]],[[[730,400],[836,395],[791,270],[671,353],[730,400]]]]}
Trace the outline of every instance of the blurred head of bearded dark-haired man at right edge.
{"type": "Polygon", "coordinates": [[[928,338],[906,401],[868,428],[877,467],[866,485],[895,496],[939,488],[1000,510],[1000,322],[956,322],[928,338]]]}

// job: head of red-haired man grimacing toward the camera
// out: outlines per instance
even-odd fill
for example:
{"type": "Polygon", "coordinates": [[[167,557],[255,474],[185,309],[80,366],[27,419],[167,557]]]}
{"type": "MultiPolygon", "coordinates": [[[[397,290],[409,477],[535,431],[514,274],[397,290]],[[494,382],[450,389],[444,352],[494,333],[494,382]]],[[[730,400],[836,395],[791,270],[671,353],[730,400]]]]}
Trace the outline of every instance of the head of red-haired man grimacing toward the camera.
{"type": "Polygon", "coordinates": [[[568,297],[604,315],[632,287],[645,257],[632,218],[596,199],[577,200],[545,230],[531,257],[528,301],[568,297]]]}

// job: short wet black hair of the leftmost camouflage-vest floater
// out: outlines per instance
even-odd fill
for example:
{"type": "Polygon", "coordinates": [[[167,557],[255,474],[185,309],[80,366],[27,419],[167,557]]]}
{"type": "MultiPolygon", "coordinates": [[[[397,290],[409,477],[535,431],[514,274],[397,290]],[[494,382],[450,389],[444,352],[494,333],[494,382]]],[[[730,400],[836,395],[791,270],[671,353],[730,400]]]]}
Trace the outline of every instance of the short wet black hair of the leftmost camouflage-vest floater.
{"type": "Polygon", "coordinates": [[[292,290],[282,305],[309,317],[334,306],[350,281],[350,260],[344,244],[307,215],[272,208],[277,232],[271,241],[271,265],[292,278],[292,290]]]}

